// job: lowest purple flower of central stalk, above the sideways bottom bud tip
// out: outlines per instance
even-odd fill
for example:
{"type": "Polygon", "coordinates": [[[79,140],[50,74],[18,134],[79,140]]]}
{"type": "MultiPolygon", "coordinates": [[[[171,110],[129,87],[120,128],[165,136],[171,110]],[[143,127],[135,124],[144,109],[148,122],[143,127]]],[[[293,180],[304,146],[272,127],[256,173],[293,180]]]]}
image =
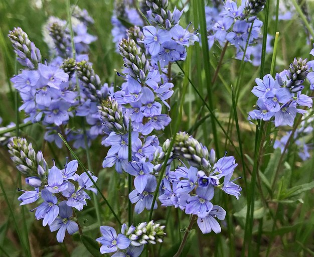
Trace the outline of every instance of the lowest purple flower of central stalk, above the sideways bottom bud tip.
{"type": "MultiPolygon", "coordinates": [[[[156,178],[154,176],[151,176],[148,178],[147,184],[142,193],[139,193],[136,189],[129,193],[128,196],[131,203],[136,203],[135,204],[136,213],[138,214],[141,213],[144,210],[144,208],[150,210],[153,199],[153,194],[151,193],[156,190],[156,186],[157,186],[156,178]]],[[[154,209],[157,208],[156,202],[153,208],[154,209]]]]}

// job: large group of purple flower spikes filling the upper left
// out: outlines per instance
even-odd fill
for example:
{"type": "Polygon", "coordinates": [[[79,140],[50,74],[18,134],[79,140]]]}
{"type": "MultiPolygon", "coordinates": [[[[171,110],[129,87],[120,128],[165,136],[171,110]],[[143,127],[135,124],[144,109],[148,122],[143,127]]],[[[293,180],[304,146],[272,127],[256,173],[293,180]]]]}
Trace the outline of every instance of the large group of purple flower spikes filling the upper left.
{"type": "Polygon", "coordinates": [[[87,32],[93,19],[86,10],[73,8],[75,59],[66,21],[51,17],[44,26],[45,41],[54,56],[50,63],[40,63],[39,49],[21,28],[15,28],[9,34],[19,62],[26,67],[11,79],[23,100],[20,110],[27,115],[25,122],[41,121],[47,127],[45,140],[55,142],[59,148],[62,142],[58,133],[68,141],[74,141],[75,148],[86,147],[83,130],[67,126],[74,114],[86,117],[88,145],[102,135],[97,105],[107,97],[109,90],[108,84],[100,82],[88,62],[89,44],[96,40],[87,32]],[[74,76],[76,71],[78,80],[74,76]]]}

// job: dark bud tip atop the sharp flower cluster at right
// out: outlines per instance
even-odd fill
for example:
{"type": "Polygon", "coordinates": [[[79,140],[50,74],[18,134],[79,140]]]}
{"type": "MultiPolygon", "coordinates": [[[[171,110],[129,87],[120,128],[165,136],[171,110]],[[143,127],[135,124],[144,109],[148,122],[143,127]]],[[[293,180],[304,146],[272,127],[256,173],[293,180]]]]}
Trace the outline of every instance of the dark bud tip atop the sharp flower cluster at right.
{"type": "Polygon", "coordinates": [[[307,59],[294,58],[293,62],[289,66],[289,79],[292,80],[290,88],[301,85],[307,77],[309,72],[307,59]]]}

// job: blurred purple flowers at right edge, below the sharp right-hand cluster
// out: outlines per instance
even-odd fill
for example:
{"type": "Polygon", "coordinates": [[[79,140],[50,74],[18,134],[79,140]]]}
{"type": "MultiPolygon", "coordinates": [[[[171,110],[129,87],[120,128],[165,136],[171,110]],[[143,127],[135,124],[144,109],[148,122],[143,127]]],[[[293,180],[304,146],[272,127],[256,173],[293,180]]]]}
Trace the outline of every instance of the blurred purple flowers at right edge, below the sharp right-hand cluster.
{"type": "MultiPolygon", "coordinates": [[[[302,117],[300,126],[295,130],[293,134],[293,141],[290,142],[290,144],[294,143],[296,145],[297,154],[302,159],[302,161],[309,159],[309,150],[313,147],[312,144],[307,143],[308,137],[313,131],[314,118],[310,114],[312,114],[312,112],[302,117]]],[[[281,137],[280,140],[276,140],[274,143],[274,149],[279,148],[282,153],[284,151],[284,148],[286,147],[289,138],[291,137],[291,133],[292,131],[288,131],[283,137],[281,137]]]]}

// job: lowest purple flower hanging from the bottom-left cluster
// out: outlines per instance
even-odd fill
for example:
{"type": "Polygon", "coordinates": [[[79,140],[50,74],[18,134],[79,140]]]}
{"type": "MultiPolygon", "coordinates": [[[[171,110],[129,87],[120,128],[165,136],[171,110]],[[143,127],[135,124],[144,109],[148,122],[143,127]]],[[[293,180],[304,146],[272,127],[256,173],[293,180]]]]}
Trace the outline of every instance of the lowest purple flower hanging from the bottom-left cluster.
{"type": "Polygon", "coordinates": [[[66,201],[59,203],[59,217],[57,217],[50,225],[50,231],[54,232],[59,230],[57,233],[57,240],[59,243],[63,242],[65,236],[65,230],[71,235],[78,231],[78,225],[73,220],[70,220],[72,217],[72,208],[69,207],[66,201]]]}

